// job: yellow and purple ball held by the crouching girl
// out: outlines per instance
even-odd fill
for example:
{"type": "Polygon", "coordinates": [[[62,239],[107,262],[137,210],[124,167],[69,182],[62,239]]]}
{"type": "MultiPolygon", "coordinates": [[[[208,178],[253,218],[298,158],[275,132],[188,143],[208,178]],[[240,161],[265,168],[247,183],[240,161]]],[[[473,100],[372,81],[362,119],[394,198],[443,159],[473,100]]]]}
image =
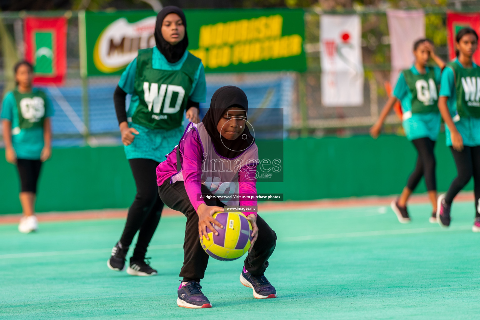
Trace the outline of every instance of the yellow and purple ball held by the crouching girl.
{"type": "Polygon", "coordinates": [[[248,252],[252,241],[252,225],[240,212],[217,212],[213,214],[223,229],[214,225],[218,236],[207,229],[208,237],[200,238],[200,243],[205,252],[212,258],[220,261],[232,261],[248,252]]]}

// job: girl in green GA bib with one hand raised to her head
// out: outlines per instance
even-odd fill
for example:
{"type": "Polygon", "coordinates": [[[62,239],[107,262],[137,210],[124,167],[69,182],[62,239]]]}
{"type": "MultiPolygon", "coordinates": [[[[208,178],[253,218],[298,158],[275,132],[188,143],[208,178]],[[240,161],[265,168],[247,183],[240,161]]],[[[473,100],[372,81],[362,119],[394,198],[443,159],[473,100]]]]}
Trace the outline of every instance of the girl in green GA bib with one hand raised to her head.
{"type": "Polygon", "coordinates": [[[440,132],[440,113],[438,112],[438,86],[445,62],[435,55],[432,42],[428,39],[417,40],[413,44],[415,62],[410,69],[403,70],[395,86],[393,95],[388,99],[377,122],[370,129],[374,139],[380,135],[382,125],[395,103],[400,100],[403,111],[402,126],[407,139],[417,149],[417,164],[398,199],[391,207],[400,223],[410,222],[407,201],[411,193],[425,177],[428,195],[432,202],[430,222],[436,223],[437,184],[435,177],[435,154],[433,147],[440,132]],[[438,67],[428,65],[430,58],[438,67]]]}

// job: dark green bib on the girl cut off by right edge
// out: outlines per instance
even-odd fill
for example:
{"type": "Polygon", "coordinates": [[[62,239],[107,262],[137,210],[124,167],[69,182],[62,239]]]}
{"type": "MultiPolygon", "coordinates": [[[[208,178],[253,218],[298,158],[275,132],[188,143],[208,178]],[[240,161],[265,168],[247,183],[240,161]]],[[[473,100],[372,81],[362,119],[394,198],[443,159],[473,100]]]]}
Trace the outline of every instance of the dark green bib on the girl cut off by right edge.
{"type": "Polygon", "coordinates": [[[455,75],[456,110],[460,118],[480,118],[480,68],[462,68],[447,64],[455,75]]]}

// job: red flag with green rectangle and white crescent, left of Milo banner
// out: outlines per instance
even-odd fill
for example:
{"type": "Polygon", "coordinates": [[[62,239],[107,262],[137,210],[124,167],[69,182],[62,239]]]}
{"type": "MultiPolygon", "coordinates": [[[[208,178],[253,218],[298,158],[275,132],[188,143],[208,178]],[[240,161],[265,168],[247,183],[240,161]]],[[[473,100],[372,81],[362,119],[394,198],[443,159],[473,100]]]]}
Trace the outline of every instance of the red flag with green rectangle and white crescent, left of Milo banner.
{"type": "Polygon", "coordinates": [[[34,83],[62,84],[67,71],[67,19],[24,19],[25,59],[34,67],[34,83]]]}

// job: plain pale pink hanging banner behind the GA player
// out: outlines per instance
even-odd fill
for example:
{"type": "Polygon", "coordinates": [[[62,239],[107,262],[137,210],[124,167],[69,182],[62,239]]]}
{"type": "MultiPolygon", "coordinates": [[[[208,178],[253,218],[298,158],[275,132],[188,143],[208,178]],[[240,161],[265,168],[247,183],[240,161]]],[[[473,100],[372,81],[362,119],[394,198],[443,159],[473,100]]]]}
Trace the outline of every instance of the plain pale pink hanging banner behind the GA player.
{"type": "Polygon", "coordinates": [[[413,64],[413,43],[425,38],[425,12],[423,10],[387,10],[388,33],[392,71],[390,83],[395,87],[398,73],[413,64]]]}

